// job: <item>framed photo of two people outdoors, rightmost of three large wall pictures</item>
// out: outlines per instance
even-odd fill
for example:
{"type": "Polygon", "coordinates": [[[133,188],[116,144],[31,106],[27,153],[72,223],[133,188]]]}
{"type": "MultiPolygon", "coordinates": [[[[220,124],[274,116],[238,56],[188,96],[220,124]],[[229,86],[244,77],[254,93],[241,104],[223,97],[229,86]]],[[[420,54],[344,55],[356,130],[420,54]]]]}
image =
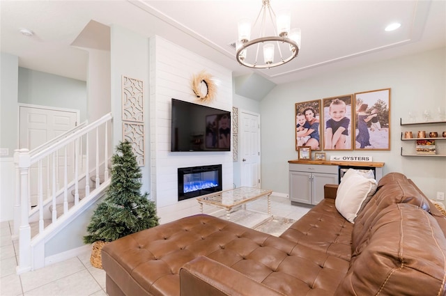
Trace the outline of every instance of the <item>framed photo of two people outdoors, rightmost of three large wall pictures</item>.
{"type": "Polygon", "coordinates": [[[355,93],[354,150],[390,150],[390,88],[355,93]]]}

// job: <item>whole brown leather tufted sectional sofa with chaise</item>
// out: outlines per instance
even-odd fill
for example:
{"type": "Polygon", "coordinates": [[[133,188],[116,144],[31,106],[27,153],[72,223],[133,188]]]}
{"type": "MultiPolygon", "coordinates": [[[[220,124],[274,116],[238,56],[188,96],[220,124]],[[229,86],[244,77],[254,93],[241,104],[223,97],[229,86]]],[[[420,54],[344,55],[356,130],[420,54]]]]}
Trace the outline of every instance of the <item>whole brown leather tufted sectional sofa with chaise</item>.
{"type": "Polygon", "coordinates": [[[102,249],[116,295],[445,295],[446,219],[389,173],[351,224],[336,186],[274,237],[208,215],[128,235],[102,249]]]}

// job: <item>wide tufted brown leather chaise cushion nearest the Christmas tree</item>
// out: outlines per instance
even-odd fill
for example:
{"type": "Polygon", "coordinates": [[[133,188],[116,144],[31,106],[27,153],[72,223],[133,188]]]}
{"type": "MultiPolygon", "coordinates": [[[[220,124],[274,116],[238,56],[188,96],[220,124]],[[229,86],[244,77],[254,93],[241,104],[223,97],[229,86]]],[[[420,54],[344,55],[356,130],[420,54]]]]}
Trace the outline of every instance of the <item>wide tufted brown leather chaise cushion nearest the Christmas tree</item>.
{"type": "Polygon", "coordinates": [[[180,268],[200,256],[284,295],[332,295],[348,269],[347,260],[207,215],[111,242],[102,266],[125,295],[178,296],[180,268]]]}

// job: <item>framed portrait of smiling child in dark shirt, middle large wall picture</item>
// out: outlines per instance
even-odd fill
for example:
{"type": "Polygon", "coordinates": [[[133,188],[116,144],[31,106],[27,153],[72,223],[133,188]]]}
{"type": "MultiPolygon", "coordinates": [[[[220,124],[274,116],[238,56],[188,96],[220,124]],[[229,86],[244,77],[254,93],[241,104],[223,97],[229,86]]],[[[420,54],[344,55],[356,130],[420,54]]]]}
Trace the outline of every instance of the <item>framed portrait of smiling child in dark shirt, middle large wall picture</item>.
{"type": "Polygon", "coordinates": [[[323,150],[353,150],[353,94],[325,98],[323,106],[323,150]]]}

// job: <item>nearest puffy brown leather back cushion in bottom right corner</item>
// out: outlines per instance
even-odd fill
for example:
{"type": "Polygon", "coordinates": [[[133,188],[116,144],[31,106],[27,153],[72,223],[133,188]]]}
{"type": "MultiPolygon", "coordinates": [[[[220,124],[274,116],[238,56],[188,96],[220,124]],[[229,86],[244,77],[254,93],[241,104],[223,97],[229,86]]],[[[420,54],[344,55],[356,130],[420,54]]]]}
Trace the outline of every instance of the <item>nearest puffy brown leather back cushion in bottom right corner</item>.
{"type": "Polygon", "coordinates": [[[436,220],[409,203],[376,215],[335,295],[443,295],[446,240],[436,220]]]}

